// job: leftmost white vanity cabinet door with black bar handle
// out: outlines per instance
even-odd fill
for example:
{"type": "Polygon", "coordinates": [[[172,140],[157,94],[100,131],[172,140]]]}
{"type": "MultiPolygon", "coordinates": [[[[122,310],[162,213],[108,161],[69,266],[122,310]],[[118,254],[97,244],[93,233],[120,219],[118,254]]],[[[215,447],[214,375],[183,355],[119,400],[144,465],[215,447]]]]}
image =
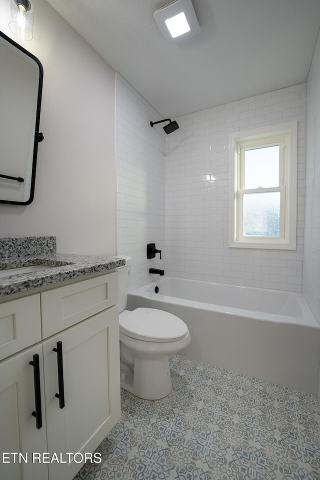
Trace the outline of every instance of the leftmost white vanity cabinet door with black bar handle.
{"type": "Polygon", "coordinates": [[[5,480],[48,478],[47,464],[39,463],[38,457],[33,459],[34,454],[47,451],[42,365],[40,344],[0,362],[0,451],[1,460],[4,459],[0,462],[0,478],[5,480]],[[30,361],[35,364],[34,367],[30,361]],[[36,384],[40,392],[37,420],[32,416],[36,409],[35,397],[39,400],[39,394],[35,393],[36,371],[39,373],[36,384]]]}

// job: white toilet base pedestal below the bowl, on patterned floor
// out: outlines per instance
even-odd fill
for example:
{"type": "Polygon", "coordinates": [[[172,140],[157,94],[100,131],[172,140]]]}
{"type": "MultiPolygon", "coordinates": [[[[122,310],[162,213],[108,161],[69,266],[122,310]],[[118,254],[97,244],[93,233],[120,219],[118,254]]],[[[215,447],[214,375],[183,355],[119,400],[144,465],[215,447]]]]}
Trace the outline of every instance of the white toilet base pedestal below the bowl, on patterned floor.
{"type": "Polygon", "coordinates": [[[124,390],[146,400],[158,400],[167,396],[172,390],[167,356],[160,358],[135,357],[132,367],[132,373],[120,368],[120,384],[124,390]]]}

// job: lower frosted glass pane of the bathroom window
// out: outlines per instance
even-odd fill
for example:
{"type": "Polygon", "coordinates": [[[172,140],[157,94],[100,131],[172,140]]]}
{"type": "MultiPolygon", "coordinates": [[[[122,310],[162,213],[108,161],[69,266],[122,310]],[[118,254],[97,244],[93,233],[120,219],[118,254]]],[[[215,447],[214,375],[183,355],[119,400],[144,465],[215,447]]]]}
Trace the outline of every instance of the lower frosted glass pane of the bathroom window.
{"type": "Polygon", "coordinates": [[[280,192],[243,195],[243,236],[280,236],[280,192]]]}

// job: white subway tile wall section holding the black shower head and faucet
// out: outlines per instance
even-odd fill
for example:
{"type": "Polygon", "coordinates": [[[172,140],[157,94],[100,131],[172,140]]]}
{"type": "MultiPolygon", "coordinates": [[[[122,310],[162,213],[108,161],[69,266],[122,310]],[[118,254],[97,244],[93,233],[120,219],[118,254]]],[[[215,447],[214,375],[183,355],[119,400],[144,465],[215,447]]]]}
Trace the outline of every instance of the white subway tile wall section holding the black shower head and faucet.
{"type": "Polygon", "coordinates": [[[150,121],[159,119],[117,73],[117,254],[133,258],[130,290],[148,283],[154,278],[149,268],[163,268],[164,263],[158,253],[146,258],[147,243],[164,250],[165,133],[161,124],[150,126],[150,121]]]}

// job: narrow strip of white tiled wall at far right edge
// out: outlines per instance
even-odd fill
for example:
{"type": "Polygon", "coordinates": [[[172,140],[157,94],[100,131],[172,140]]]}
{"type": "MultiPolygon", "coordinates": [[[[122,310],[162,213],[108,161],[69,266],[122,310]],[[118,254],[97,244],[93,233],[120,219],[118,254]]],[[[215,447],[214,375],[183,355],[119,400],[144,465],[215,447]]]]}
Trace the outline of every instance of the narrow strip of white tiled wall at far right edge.
{"type": "Polygon", "coordinates": [[[302,292],[320,322],[320,36],[307,79],[307,155],[302,292]]]}

